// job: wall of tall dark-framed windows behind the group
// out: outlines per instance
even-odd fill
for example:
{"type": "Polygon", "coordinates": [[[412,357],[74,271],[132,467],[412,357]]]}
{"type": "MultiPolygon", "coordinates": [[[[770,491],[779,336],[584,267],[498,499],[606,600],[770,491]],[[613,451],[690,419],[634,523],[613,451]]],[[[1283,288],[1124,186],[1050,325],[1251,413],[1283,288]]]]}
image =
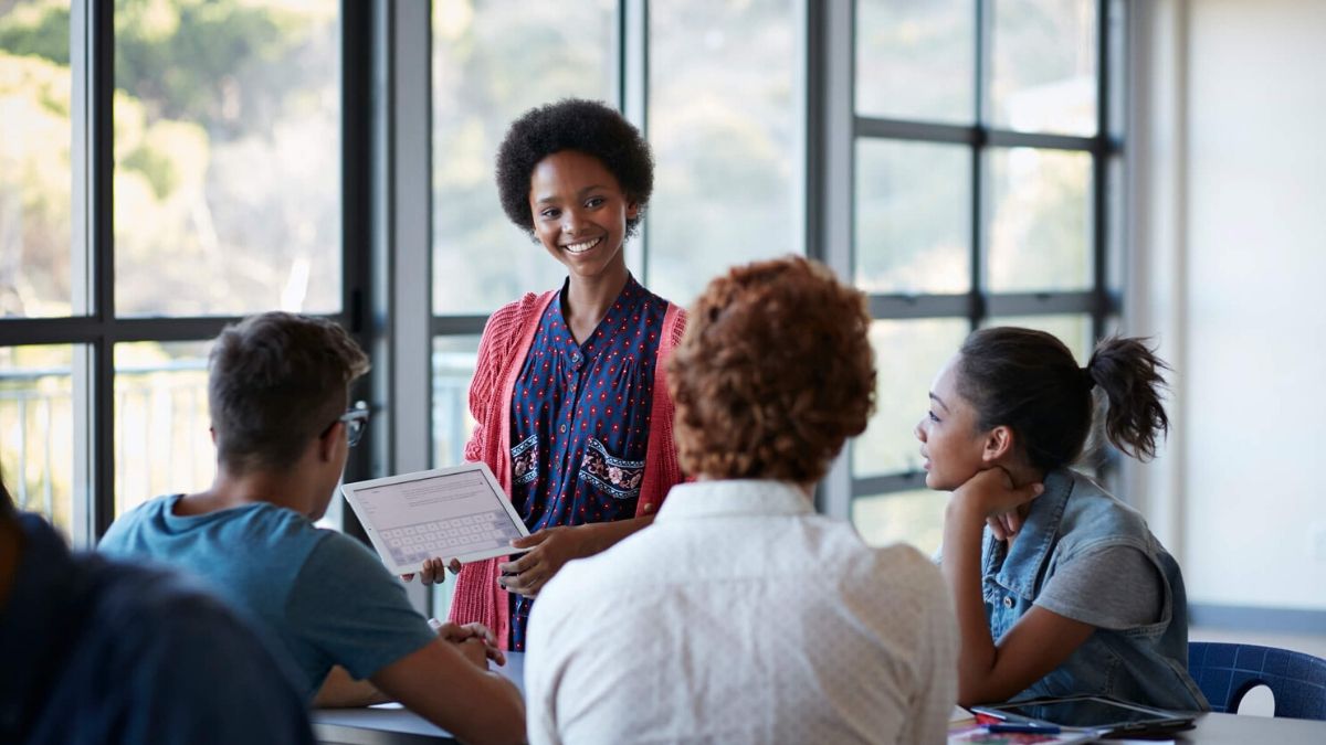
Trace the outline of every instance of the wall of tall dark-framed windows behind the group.
{"type": "Polygon", "coordinates": [[[457,463],[487,318],[564,277],[496,147],[574,95],[654,147],[652,290],[806,253],[870,294],[878,415],[821,506],[934,547],[939,366],[991,323],[1085,355],[1118,308],[1124,7],[0,0],[0,467],[80,542],[206,485],[207,341],[269,309],[373,351],[351,477],[457,463]]]}

